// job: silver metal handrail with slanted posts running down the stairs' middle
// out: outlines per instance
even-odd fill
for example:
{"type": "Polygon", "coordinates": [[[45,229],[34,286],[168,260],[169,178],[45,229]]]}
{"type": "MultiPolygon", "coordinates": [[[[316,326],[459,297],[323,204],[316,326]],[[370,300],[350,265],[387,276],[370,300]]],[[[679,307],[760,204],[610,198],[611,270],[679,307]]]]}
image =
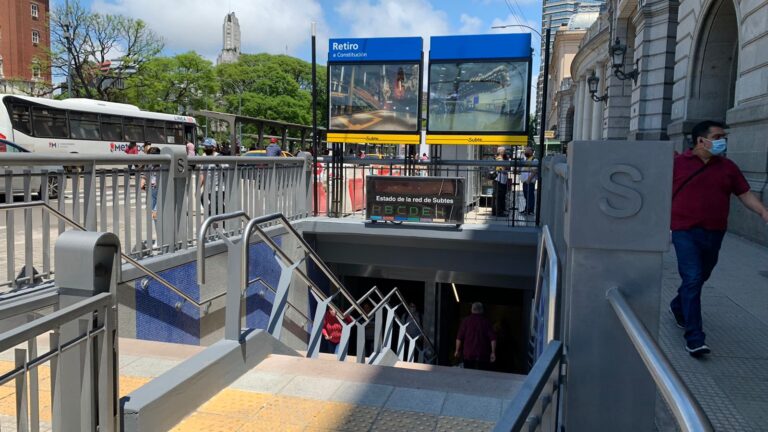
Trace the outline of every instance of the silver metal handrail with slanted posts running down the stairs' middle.
{"type": "MultiPolygon", "coordinates": [[[[198,284],[204,285],[206,281],[205,244],[206,239],[209,237],[209,229],[213,224],[223,224],[226,221],[232,220],[248,220],[248,224],[243,231],[242,237],[238,239],[222,237],[228,246],[227,260],[229,269],[224,318],[224,336],[226,339],[239,340],[242,335],[242,290],[248,286],[246,282],[249,280],[246,265],[248,262],[248,245],[250,244],[251,235],[256,234],[264,244],[275,252],[275,260],[277,260],[281,267],[280,280],[275,290],[275,299],[267,323],[267,331],[275,338],[280,339],[286,307],[290,306],[295,310],[300,310],[300,308],[294,307],[288,301],[288,287],[292,276],[295,274],[308,287],[308,294],[312,295],[317,301],[311,328],[306,327],[309,324],[309,318],[304,317],[306,321],[303,323],[303,327],[310,332],[307,357],[317,357],[320,351],[321,331],[324,320],[327,319],[326,311],[330,310],[342,325],[341,340],[336,351],[337,358],[340,361],[344,361],[348,355],[353,328],[357,336],[356,354],[359,363],[364,361],[365,354],[370,354],[369,361],[375,361],[376,355],[382,353],[385,348],[391,349],[401,361],[414,362],[418,360],[422,362],[426,358],[428,362],[431,362],[434,359],[436,354],[434,345],[422,329],[418,319],[408,309],[405,299],[397,288],[392,289],[385,295],[376,287],[373,287],[360,299],[355,299],[320,256],[304,240],[301,234],[293,228],[290,221],[279,213],[249,219],[245,212],[238,211],[215,215],[206,219],[202,224],[198,241],[198,284]],[[294,260],[291,258],[261,228],[262,225],[275,223],[283,227],[292,239],[298,243],[303,255],[301,259],[294,260]],[[330,292],[324,292],[317,285],[316,281],[312,280],[304,270],[298,268],[306,259],[311,260],[328,279],[329,286],[331,287],[330,292]],[[378,299],[374,298],[374,294],[378,296],[378,299]],[[370,305],[371,309],[366,311],[362,306],[364,303],[370,305]],[[395,311],[401,307],[403,308],[403,315],[398,317],[395,311]],[[397,324],[396,332],[395,324],[397,324]],[[372,341],[372,347],[369,349],[370,353],[365,352],[365,332],[368,326],[375,327],[375,337],[372,341]],[[413,331],[409,330],[409,327],[413,328],[413,331]]],[[[216,232],[221,236],[223,230],[219,227],[216,229],[216,232]]],[[[309,302],[309,299],[307,299],[307,302],[309,302]]]]}

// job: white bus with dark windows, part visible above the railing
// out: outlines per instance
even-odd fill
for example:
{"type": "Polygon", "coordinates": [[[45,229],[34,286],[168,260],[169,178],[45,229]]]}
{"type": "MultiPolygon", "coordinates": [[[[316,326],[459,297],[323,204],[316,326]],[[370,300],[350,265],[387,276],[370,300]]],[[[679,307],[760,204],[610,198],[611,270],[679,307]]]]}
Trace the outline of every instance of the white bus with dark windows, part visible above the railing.
{"type": "Polygon", "coordinates": [[[93,99],[0,95],[0,139],[37,153],[116,153],[135,141],[160,147],[195,142],[194,117],[93,99]]]}

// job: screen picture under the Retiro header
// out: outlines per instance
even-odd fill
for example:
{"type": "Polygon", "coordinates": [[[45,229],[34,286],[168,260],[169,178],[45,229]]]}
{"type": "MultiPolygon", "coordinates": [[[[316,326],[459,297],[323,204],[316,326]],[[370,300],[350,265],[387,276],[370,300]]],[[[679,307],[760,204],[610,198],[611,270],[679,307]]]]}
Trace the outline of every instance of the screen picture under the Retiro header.
{"type": "Polygon", "coordinates": [[[417,64],[332,64],[331,130],[419,130],[417,64]]]}

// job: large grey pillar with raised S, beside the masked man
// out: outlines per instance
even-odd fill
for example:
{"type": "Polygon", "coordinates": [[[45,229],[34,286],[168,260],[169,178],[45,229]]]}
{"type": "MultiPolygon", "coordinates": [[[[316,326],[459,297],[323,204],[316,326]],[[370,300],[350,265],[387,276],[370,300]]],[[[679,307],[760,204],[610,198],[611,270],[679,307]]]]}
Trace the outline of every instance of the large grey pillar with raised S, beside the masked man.
{"type": "Polygon", "coordinates": [[[606,291],[618,288],[658,337],[672,143],[576,141],[568,151],[568,175],[561,303],[568,317],[565,430],[653,430],[656,386],[606,291]]]}

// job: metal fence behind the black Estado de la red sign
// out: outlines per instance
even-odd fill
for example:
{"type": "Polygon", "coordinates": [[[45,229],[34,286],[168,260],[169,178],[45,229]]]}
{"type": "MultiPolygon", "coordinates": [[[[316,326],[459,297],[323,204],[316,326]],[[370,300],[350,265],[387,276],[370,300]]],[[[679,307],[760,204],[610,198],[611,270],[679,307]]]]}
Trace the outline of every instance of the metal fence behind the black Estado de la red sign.
{"type": "Polygon", "coordinates": [[[322,215],[364,217],[365,182],[370,175],[459,177],[465,182],[467,222],[499,221],[509,226],[536,225],[535,197],[538,186],[536,181],[526,179],[532,172],[535,173],[538,162],[515,159],[406,163],[403,159],[346,158],[340,168],[334,168],[330,158],[321,158],[320,161],[317,168],[321,182],[318,213],[322,215]],[[500,186],[502,181],[505,181],[504,186],[500,186]],[[526,204],[530,213],[526,212],[526,204]]]}

